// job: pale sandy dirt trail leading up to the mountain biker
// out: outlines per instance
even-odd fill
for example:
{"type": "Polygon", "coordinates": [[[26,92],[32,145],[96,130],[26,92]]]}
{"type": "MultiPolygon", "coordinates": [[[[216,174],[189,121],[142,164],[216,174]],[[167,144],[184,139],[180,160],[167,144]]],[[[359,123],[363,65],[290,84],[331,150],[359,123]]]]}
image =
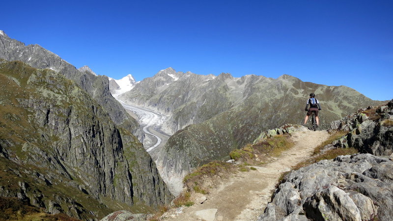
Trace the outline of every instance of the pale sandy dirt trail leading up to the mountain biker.
{"type": "Polygon", "coordinates": [[[308,158],[326,140],[326,131],[292,134],[295,145],[257,170],[239,172],[211,190],[203,204],[178,208],[165,215],[173,221],[253,221],[263,213],[282,172],[308,158]]]}

